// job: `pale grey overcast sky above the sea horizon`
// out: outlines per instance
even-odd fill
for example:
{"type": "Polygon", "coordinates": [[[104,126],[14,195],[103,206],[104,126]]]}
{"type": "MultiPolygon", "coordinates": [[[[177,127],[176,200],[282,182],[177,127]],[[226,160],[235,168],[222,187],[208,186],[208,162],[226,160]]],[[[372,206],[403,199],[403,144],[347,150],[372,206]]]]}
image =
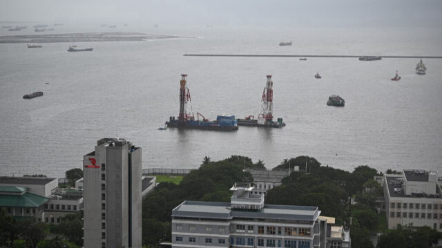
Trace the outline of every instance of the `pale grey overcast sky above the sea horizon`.
{"type": "Polygon", "coordinates": [[[195,26],[442,26],[441,0],[0,0],[0,21],[195,26]]]}

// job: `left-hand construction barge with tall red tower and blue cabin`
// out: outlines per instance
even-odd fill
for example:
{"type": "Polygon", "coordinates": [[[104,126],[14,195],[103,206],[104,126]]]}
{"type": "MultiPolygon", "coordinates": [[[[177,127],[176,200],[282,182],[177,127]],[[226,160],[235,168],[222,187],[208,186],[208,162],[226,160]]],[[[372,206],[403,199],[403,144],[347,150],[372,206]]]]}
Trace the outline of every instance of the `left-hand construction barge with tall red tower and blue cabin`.
{"type": "Polygon", "coordinates": [[[207,120],[202,114],[197,114],[197,120],[193,115],[191,106],[191,93],[186,84],[186,74],[181,75],[180,81],[180,113],[175,119],[175,116],[169,117],[169,122],[166,122],[166,126],[176,128],[193,128],[203,130],[215,130],[215,131],[236,131],[238,130],[238,122],[235,120],[235,115],[218,115],[215,121],[207,120]],[[202,120],[199,120],[199,117],[202,120]]]}

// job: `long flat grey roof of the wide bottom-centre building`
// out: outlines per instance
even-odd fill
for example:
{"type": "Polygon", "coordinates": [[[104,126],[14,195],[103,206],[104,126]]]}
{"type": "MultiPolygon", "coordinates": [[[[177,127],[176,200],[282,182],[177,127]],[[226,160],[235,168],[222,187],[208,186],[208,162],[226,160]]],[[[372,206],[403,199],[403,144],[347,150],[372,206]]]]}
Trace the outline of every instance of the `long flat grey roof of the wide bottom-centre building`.
{"type": "Polygon", "coordinates": [[[318,207],[270,205],[259,210],[231,209],[230,202],[184,201],[172,211],[173,217],[191,218],[265,218],[280,220],[315,221],[320,214],[318,207]]]}

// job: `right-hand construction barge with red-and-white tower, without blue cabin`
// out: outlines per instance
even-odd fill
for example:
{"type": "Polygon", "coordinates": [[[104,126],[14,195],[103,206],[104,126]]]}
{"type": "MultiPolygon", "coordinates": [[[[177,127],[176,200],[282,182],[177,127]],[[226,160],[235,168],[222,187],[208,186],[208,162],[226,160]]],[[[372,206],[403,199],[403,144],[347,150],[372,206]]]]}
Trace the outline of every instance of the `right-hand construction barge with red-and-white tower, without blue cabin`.
{"type": "Polygon", "coordinates": [[[261,102],[261,111],[258,115],[258,120],[254,120],[254,115],[249,115],[244,119],[238,119],[238,126],[262,126],[274,128],[285,126],[282,118],[278,118],[278,121],[276,122],[273,121],[273,82],[271,81],[271,75],[267,75],[267,84],[262,92],[261,102]]]}

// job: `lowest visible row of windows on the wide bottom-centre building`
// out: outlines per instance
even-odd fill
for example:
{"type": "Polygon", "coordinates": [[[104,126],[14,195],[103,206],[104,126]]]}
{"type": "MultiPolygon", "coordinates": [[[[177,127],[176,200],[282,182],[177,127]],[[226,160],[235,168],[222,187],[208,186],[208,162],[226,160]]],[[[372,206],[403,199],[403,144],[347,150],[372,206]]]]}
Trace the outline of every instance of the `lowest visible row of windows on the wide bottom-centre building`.
{"type": "MultiPolygon", "coordinates": [[[[176,242],[182,242],[181,236],[175,237],[176,242]]],[[[213,238],[204,238],[204,242],[206,244],[212,244],[216,240],[213,240],[213,238]]],[[[196,242],[195,237],[189,237],[189,242],[196,242]]],[[[226,240],[224,238],[218,238],[218,244],[225,244],[226,240]]],[[[284,247],[287,248],[296,248],[296,245],[298,243],[298,248],[309,248],[310,247],[310,241],[297,241],[297,240],[284,240],[284,247]]],[[[231,245],[248,245],[253,246],[255,245],[255,239],[254,238],[243,238],[243,237],[231,237],[230,238],[230,244],[231,245]]],[[[281,240],[274,240],[274,239],[264,239],[264,238],[258,238],[258,247],[281,247],[281,240]]],[[[332,242],[332,248],[340,248],[340,242],[332,242]]]]}

